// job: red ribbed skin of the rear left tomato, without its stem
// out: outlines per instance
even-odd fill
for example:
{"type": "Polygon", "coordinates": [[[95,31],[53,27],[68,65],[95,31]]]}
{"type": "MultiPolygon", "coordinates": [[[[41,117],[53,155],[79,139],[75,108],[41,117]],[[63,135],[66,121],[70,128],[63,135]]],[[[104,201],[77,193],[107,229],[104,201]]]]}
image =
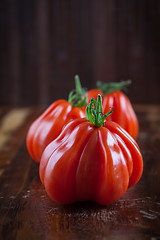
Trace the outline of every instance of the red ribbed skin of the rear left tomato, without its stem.
{"type": "Polygon", "coordinates": [[[84,111],[73,107],[66,100],[52,103],[30,126],[27,148],[31,157],[39,163],[45,147],[55,139],[71,120],[85,117],[84,111]]]}

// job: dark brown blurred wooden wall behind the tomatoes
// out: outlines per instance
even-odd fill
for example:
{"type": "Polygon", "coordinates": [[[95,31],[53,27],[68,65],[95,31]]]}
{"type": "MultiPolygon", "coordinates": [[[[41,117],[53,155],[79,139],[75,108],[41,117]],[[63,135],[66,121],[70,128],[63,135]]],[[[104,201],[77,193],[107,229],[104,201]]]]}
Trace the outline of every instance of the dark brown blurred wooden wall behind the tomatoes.
{"type": "Polygon", "coordinates": [[[132,79],[133,103],[160,103],[160,1],[1,0],[0,103],[48,104],[132,79]]]}

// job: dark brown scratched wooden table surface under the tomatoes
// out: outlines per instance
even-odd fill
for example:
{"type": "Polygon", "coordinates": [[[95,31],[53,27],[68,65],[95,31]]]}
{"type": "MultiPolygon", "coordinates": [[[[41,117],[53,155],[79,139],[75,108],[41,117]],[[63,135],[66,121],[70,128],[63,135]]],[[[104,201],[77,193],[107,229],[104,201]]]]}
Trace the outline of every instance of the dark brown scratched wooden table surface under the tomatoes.
{"type": "Polygon", "coordinates": [[[48,198],[25,145],[42,110],[0,108],[0,240],[160,239],[160,106],[135,106],[143,176],[107,206],[59,205],[48,198]]]}

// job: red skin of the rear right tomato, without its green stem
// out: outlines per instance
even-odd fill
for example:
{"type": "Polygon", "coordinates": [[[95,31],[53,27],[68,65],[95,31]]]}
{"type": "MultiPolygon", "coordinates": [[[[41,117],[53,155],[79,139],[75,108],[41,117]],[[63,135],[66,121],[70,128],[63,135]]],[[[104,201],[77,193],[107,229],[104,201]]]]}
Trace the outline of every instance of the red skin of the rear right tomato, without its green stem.
{"type": "Polygon", "coordinates": [[[101,94],[103,99],[102,106],[104,113],[108,112],[110,107],[114,107],[114,112],[109,116],[108,120],[118,123],[134,139],[136,139],[139,131],[139,124],[128,97],[121,91],[103,94],[100,89],[92,89],[88,91],[88,103],[91,98],[96,99],[98,94],[101,94]]]}

